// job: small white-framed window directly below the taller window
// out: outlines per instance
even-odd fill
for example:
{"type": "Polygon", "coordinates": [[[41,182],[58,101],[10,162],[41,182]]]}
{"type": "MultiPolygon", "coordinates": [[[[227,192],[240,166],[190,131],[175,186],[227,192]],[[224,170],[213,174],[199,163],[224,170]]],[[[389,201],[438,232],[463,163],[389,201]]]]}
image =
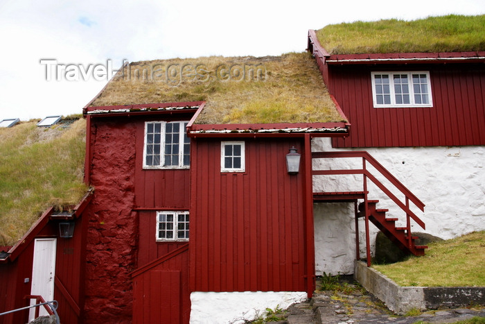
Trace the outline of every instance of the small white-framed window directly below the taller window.
{"type": "Polygon", "coordinates": [[[188,212],[157,212],[157,241],[188,241],[188,212]]]}

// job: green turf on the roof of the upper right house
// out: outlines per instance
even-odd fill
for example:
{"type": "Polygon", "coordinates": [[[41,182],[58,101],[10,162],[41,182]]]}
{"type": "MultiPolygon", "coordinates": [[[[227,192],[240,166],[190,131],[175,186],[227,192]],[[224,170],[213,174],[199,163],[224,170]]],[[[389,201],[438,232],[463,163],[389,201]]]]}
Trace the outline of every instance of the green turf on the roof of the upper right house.
{"type": "Polygon", "coordinates": [[[316,31],[332,54],[485,51],[485,15],[447,15],[328,25],[316,31]]]}

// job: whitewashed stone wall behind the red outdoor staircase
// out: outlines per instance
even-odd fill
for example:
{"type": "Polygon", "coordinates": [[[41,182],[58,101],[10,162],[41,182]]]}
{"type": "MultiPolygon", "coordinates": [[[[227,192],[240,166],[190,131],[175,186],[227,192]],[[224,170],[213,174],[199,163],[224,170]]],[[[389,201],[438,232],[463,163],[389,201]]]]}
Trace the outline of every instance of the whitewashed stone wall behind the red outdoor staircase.
{"type": "MultiPolygon", "coordinates": [[[[425,212],[413,212],[426,230],[412,222],[412,231],[451,239],[475,230],[485,230],[485,146],[344,148],[335,149],[330,139],[313,139],[313,151],[367,151],[425,204],[425,212]]],[[[367,164],[369,166],[369,164],[367,164]]],[[[321,159],[314,169],[361,169],[362,159],[321,159]]],[[[369,168],[371,169],[371,168],[369,168]]],[[[377,172],[373,172],[378,176],[377,172]]],[[[378,177],[388,188],[392,185],[378,177]]],[[[315,176],[314,191],[362,191],[362,176],[315,176]]],[[[391,189],[398,196],[399,191],[391,189]]],[[[369,199],[389,209],[405,226],[405,214],[380,189],[369,185],[369,199]],[[402,221],[401,221],[402,220],[402,221]]],[[[404,198],[402,199],[404,201],[404,198]]],[[[323,272],[352,273],[355,258],[355,225],[352,203],[317,203],[315,211],[315,262],[323,272]]],[[[364,223],[360,219],[360,250],[365,251],[364,223]]],[[[371,249],[378,230],[371,224],[371,249]]]]}

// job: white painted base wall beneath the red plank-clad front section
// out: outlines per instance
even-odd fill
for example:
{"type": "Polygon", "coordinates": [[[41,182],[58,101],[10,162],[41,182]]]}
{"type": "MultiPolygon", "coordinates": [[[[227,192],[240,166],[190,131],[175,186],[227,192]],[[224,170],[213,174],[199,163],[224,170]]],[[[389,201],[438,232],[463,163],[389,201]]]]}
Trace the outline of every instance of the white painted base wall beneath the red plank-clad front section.
{"type": "Polygon", "coordinates": [[[191,293],[191,324],[242,324],[265,315],[265,309],[287,309],[306,300],[304,291],[191,293]]]}

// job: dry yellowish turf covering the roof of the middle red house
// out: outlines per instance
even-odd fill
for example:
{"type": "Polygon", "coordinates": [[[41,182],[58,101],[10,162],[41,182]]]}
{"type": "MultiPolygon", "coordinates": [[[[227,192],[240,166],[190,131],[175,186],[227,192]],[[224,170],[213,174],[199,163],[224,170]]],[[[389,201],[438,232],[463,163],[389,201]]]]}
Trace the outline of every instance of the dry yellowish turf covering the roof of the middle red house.
{"type": "Polygon", "coordinates": [[[196,123],[344,121],[306,52],[136,62],[91,105],[181,101],[207,102],[196,123]]]}

